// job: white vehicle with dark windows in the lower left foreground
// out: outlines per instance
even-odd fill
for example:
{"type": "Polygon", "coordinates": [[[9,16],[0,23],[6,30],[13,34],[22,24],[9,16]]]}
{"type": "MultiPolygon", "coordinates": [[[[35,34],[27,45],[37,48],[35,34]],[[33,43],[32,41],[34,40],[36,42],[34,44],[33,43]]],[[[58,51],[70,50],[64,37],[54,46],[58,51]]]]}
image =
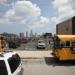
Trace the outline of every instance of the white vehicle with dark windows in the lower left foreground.
{"type": "Polygon", "coordinates": [[[0,54],[0,75],[22,75],[21,59],[15,52],[0,54]]]}

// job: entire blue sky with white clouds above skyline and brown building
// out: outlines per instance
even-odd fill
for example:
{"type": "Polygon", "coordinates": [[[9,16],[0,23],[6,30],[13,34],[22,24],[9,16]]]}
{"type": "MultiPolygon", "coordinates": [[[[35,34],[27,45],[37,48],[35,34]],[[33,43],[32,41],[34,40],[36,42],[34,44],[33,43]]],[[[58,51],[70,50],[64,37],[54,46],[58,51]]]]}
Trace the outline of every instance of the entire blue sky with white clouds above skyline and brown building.
{"type": "Polygon", "coordinates": [[[0,0],[0,32],[55,33],[56,24],[75,16],[75,0],[0,0]]]}

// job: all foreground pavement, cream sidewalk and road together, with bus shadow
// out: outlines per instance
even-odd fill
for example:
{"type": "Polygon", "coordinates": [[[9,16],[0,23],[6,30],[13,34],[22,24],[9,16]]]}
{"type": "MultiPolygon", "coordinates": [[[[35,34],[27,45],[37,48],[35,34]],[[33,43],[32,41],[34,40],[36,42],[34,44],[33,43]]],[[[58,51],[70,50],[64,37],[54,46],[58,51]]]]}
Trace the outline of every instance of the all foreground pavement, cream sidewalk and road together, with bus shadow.
{"type": "Polygon", "coordinates": [[[48,51],[17,51],[23,75],[75,75],[75,61],[59,62],[48,51]]]}

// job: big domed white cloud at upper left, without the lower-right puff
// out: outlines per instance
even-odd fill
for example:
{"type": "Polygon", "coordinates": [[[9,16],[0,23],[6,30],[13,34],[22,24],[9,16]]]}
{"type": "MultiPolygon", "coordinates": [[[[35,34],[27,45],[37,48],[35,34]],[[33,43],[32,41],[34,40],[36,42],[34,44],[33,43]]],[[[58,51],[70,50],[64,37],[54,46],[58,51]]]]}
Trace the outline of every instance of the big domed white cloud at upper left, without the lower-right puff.
{"type": "Polygon", "coordinates": [[[5,17],[11,21],[22,21],[40,16],[40,8],[30,1],[17,1],[12,9],[8,10],[5,17]]]}

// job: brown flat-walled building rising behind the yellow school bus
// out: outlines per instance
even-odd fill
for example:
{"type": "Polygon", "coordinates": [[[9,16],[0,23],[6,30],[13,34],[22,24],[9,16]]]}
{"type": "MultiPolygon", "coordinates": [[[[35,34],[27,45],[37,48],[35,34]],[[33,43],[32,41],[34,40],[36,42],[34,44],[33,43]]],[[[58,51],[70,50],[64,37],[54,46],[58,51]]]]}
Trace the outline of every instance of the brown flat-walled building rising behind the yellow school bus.
{"type": "Polygon", "coordinates": [[[68,20],[65,20],[62,23],[57,24],[56,34],[75,35],[75,16],[68,20]]]}

